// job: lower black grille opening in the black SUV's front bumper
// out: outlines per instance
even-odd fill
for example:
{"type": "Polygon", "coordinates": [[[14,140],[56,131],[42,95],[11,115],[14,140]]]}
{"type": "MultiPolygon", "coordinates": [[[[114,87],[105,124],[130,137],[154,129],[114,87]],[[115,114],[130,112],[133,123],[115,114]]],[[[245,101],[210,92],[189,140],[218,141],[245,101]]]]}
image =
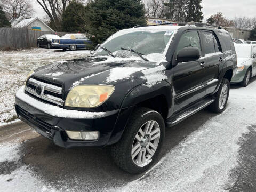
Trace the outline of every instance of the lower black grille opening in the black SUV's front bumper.
{"type": "Polygon", "coordinates": [[[52,125],[50,125],[49,123],[46,123],[46,122],[42,121],[41,119],[38,119],[37,117],[28,113],[26,110],[22,109],[19,106],[16,106],[16,110],[17,110],[18,115],[25,118],[30,123],[33,123],[35,126],[37,126],[42,131],[52,133],[52,125]]]}

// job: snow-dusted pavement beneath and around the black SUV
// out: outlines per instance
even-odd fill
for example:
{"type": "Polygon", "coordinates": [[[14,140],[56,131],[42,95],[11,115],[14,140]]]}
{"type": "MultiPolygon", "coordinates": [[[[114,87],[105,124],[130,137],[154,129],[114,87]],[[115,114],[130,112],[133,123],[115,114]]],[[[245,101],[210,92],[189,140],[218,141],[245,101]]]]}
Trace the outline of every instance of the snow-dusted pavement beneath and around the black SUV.
{"type": "Polygon", "coordinates": [[[166,130],[152,169],[119,170],[109,148],[63,149],[21,124],[0,129],[0,191],[256,191],[256,78],[225,112],[166,130]]]}

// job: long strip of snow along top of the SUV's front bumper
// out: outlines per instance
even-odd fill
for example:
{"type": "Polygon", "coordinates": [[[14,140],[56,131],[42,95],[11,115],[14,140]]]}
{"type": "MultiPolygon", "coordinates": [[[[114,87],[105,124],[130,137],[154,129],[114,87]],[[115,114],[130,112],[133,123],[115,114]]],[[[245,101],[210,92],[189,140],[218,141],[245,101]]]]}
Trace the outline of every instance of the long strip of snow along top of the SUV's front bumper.
{"type": "Polygon", "coordinates": [[[43,111],[49,115],[55,117],[63,117],[63,118],[76,118],[76,119],[94,119],[100,118],[104,116],[105,112],[87,112],[87,111],[78,111],[78,110],[69,110],[63,109],[58,106],[53,106],[47,103],[43,103],[38,101],[24,92],[24,86],[19,89],[16,96],[22,101],[28,103],[29,105],[35,107],[38,110],[43,111]]]}

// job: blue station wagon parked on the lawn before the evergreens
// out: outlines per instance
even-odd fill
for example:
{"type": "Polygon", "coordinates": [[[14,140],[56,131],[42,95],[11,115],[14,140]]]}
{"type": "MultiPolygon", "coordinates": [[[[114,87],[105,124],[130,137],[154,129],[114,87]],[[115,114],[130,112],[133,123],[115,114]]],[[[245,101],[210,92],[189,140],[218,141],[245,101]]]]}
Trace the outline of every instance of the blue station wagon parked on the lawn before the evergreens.
{"type": "Polygon", "coordinates": [[[91,41],[84,34],[66,34],[60,39],[52,39],[53,46],[59,46],[63,50],[69,49],[71,51],[86,48],[88,43],[91,43],[91,41]]]}

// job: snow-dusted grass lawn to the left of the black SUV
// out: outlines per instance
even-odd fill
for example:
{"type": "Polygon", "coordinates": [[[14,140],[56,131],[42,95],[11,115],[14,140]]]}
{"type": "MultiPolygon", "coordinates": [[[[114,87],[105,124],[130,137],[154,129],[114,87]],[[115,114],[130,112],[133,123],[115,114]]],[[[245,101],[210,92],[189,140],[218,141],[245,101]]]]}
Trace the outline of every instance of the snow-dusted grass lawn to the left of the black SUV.
{"type": "Polygon", "coordinates": [[[27,49],[0,51],[0,125],[14,120],[14,95],[24,85],[31,70],[54,61],[83,58],[87,50],[63,51],[49,49],[27,49]]]}

